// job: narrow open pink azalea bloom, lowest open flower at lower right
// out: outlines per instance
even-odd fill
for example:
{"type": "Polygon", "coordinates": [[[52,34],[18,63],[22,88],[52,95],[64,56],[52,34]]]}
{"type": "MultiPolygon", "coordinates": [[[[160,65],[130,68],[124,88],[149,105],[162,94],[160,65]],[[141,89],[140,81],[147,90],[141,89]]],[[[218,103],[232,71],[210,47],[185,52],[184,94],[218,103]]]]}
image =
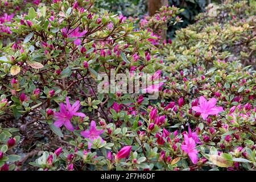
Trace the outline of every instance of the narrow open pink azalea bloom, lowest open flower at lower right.
{"type": "Polygon", "coordinates": [[[185,144],[181,145],[181,149],[186,152],[191,159],[193,164],[197,163],[197,150],[196,150],[196,142],[193,138],[189,138],[187,134],[184,134],[184,142],[185,144]]]}

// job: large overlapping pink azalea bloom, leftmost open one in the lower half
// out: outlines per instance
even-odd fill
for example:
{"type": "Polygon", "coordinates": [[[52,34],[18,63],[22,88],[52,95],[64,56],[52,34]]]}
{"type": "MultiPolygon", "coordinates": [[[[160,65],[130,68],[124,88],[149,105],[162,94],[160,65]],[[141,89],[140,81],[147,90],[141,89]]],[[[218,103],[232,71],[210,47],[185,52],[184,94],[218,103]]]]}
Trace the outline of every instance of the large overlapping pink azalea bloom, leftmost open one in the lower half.
{"type": "Polygon", "coordinates": [[[71,104],[69,103],[68,97],[66,97],[66,104],[67,105],[64,105],[61,102],[60,111],[54,113],[54,116],[56,118],[56,121],[54,122],[54,126],[61,127],[64,125],[69,131],[73,131],[74,128],[71,124],[71,119],[73,115],[76,115],[79,117],[85,117],[86,115],[84,113],[77,113],[77,111],[80,109],[80,101],[76,101],[71,106],[71,104]]]}

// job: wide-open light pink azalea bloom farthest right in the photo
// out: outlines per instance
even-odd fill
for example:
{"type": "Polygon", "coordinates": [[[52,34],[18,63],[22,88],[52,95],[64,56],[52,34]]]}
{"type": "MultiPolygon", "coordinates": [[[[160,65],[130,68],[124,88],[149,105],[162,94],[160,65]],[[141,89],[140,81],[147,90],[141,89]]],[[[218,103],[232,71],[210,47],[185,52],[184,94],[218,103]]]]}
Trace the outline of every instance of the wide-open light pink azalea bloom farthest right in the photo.
{"type": "Polygon", "coordinates": [[[201,113],[201,117],[205,120],[207,119],[208,115],[215,115],[223,111],[222,107],[216,106],[216,98],[211,98],[207,101],[204,96],[199,98],[199,106],[193,106],[192,109],[196,112],[201,113]]]}

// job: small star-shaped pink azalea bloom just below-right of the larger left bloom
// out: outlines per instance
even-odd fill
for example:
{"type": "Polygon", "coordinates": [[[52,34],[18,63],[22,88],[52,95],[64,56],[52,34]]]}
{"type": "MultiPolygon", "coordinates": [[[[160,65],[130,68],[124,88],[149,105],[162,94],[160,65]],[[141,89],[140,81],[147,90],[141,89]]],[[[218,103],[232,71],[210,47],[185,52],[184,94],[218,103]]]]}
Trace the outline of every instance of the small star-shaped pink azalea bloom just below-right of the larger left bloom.
{"type": "MultiPolygon", "coordinates": [[[[90,122],[90,129],[86,131],[82,131],[81,135],[84,138],[89,138],[92,142],[98,138],[100,138],[101,143],[104,142],[104,140],[100,137],[100,135],[104,132],[104,130],[97,130],[96,129],[96,123],[95,121],[90,122]]],[[[88,149],[90,149],[92,146],[92,143],[88,142],[88,149]]]]}

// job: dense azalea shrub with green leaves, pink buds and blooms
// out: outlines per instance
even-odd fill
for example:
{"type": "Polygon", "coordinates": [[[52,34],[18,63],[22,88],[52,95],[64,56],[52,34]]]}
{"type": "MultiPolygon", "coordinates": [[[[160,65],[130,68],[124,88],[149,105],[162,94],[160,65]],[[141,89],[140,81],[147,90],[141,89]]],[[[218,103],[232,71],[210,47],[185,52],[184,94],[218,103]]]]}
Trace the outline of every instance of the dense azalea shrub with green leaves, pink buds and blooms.
{"type": "Polygon", "coordinates": [[[0,170],[255,169],[254,5],[210,5],[162,40],[183,10],[138,23],[94,3],[54,0],[6,24],[0,170]]]}

